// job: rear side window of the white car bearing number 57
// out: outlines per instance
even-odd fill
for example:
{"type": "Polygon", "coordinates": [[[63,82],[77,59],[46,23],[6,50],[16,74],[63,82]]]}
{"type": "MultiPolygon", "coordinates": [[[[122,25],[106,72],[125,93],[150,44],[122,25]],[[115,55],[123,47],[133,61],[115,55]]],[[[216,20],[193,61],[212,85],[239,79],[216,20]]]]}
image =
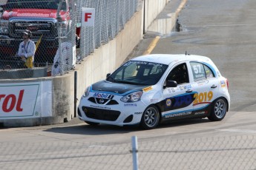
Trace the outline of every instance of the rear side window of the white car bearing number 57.
{"type": "Polygon", "coordinates": [[[191,69],[193,72],[194,81],[200,81],[206,78],[213,78],[214,74],[209,67],[205,64],[190,62],[191,69]]]}

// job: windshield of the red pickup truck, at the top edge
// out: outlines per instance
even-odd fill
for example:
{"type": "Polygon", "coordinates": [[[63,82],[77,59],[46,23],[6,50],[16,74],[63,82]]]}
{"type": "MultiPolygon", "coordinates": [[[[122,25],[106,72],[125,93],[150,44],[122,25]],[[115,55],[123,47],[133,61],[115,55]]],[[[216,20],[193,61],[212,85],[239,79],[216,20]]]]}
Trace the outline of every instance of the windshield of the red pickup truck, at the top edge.
{"type": "MultiPolygon", "coordinates": [[[[66,9],[65,1],[62,2],[62,10],[66,9]]],[[[7,9],[13,8],[31,8],[31,9],[51,9],[57,10],[59,6],[59,0],[9,0],[6,4],[7,9]]]]}

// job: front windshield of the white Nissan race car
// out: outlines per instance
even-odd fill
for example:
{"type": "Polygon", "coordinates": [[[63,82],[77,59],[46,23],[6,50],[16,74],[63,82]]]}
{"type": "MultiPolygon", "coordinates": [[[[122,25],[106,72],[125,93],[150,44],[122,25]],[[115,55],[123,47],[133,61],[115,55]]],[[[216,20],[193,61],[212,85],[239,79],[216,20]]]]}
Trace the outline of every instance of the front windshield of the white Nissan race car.
{"type": "Polygon", "coordinates": [[[128,61],[111,74],[107,81],[122,84],[154,85],[168,65],[146,61],[128,61]]]}

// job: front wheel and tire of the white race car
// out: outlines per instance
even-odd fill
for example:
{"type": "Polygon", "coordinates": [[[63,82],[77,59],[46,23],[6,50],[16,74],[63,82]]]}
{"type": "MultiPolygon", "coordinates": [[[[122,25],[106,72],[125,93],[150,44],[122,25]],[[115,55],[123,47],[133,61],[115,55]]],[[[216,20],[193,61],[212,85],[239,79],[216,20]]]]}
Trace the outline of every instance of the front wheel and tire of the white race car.
{"type": "Polygon", "coordinates": [[[156,106],[148,106],[142,114],[140,126],[143,129],[154,129],[160,122],[160,112],[156,106]]]}

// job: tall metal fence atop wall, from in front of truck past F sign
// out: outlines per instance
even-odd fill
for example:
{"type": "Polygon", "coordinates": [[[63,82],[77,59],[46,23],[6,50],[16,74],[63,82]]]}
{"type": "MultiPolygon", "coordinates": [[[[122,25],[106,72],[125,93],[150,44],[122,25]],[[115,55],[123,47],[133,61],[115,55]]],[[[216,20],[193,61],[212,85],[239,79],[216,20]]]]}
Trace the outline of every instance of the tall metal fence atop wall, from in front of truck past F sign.
{"type": "Polygon", "coordinates": [[[137,11],[137,0],[5,1],[0,8],[1,79],[62,75],[113,39],[137,11]],[[81,27],[82,7],[95,8],[95,27],[81,27]],[[29,74],[16,57],[24,30],[32,32],[37,47],[29,74]]]}

